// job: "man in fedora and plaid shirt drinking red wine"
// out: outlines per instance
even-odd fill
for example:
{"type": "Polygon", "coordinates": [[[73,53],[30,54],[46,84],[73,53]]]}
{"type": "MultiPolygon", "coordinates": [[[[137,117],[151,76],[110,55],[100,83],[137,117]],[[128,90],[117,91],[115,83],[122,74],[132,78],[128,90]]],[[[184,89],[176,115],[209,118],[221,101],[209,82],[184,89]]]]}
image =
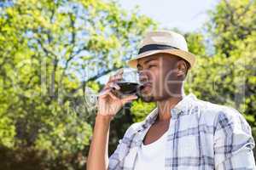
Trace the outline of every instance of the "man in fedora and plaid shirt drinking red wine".
{"type": "Polygon", "coordinates": [[[108,159],[110,122],[131,95],[119,99],[112,89],[122,77],[109,78],[102,89],[87,161],[88,170],[192,170],[256,169],[251,128],[233,108],[215,105],[185,95],[183,81],[195,65],[183,36],[172,31],[149,32],[136,59],[144,84],[141,98],[154,101],[154,109],[143,122],[131,125],[108,159]]]}

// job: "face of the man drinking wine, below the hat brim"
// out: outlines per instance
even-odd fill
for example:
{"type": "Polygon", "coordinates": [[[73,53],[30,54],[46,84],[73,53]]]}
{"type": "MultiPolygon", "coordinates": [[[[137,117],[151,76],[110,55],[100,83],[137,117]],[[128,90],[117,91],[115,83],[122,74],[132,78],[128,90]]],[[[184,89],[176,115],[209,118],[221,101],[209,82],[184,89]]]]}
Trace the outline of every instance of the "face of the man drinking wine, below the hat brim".
{"type": "Polygon", "coordinates": [[[184,60],[172,54],[154,54],[138,59],[139,79],[144,84],[140,92],[143,101],[160,101],[176,96],[185,76],[178,74],[182,65],[185,65],[184,60]]]}

